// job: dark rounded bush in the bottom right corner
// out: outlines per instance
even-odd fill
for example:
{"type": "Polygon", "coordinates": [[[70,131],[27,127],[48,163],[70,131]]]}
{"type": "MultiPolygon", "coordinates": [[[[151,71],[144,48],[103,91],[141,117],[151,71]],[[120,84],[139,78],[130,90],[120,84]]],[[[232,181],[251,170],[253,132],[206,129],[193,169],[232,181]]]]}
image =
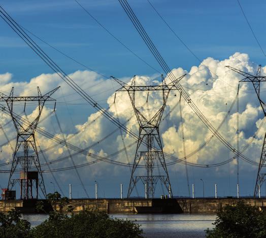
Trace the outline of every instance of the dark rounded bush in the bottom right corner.
{"type": "Polygon", "coordinates": [[[266,237],[266,213],[258,207],[238,202],[235,206],[227,205],[217,214],[215,227],[206,230],[209,238],[262,238],[266,237]]]}

